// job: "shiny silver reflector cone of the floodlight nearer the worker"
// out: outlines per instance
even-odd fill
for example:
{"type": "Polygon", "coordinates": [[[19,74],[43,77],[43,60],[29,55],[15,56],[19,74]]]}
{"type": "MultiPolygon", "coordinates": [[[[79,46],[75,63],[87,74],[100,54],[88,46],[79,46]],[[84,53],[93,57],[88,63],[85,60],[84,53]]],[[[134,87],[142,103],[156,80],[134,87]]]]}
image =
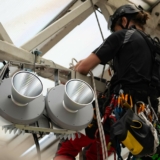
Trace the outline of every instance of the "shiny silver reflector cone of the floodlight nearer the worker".
{"type": "Polygon", "coordinates": [[[94,91],[85,81],[71,79],[65,85],[63,106],[69,112],[77,112],[94,101],[94,91]]]}

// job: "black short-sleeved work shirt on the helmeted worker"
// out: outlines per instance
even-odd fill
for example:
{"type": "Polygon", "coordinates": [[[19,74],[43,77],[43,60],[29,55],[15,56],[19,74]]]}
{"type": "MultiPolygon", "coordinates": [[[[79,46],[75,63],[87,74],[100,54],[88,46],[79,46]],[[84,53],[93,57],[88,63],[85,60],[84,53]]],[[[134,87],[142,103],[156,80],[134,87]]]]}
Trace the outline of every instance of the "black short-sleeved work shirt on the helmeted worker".
{"type": "Polygon", "coordinates": [[[144,85],[151,78],[152,57],[146,41],[136,30],[126,33],[126,29],[112,33],[95,52],[101,64],[113,59],[112,87],[144,85]]]}

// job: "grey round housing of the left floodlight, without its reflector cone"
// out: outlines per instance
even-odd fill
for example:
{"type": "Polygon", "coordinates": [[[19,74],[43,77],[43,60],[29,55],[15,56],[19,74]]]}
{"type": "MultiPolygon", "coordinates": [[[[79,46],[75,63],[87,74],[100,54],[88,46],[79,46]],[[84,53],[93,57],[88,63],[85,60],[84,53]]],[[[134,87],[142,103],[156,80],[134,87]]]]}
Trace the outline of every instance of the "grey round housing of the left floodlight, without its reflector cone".
{"type": "Polygon", "coordinates": [[[31,124],[43,114],[45,100],[42,95],[23,107],[17,106],[12,102],[11,98],[9,98],[11,95],[11,78],[2,81],[0,95],[0,115],[12,123],[31,124]]]}

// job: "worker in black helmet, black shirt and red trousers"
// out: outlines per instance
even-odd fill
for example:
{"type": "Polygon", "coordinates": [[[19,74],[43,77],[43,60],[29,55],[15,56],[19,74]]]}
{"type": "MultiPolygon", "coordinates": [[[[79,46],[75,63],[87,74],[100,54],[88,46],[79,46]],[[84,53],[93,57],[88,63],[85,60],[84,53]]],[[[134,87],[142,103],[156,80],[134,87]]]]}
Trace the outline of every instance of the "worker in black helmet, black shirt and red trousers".
{"type": "MultiPolygon", "coordinates": [[[[145,24],[149,14],[142,8],[134,5],[119,7],[110,17],[108,27],[112,34],[87,58],[81,60],[75,71],[87,75],[98,64],[106,65],[113,60],[114,75],[110,81],[110,92],[119,94],[119,91],[129,92],[136,101],[148,104],[150,96],[152,106],[157,112],[157,90],[150,94],[149,82],[151,80],[152,57],[151,51],[144,38],[137,30],[145,32],[145,24]],[[131,29],[134,28],[134,29],[131,29]]],[[[106,135],[106,143],[109,135],[106,135]]],[[[85,160],[97,159],[97,143],[95,139],[82,135],[75,140],[61,141],[54,160],[74,160],[83,147],[87,146],[84,153],[85,160]]],[[[114,152],[110,148],[108,155],[114,152]]],[[[102,160],[101,151],[98,153],[102,160]]]]}

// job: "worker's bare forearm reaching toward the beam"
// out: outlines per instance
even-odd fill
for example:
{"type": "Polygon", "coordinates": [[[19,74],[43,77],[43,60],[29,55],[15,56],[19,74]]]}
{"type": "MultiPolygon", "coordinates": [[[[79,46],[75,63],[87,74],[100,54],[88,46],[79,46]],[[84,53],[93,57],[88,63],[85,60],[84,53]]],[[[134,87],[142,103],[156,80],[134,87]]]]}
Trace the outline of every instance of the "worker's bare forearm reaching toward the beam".
{"type": "Polygon", "coordinates": [[[87,75],[90,70],[96,67],[100,63],[100,59],[96,54],[90,54],[86,59],[83,59],[78,62],[75,66],[75,71],[87,75]]]}

